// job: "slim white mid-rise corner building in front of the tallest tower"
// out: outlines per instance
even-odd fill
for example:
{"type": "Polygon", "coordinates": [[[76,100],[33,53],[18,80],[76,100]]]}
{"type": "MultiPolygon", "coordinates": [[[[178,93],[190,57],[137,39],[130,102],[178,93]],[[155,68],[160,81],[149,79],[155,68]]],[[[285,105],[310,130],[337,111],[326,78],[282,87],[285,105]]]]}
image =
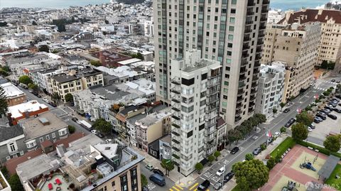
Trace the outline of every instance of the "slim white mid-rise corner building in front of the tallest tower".
{"type": "Polygon", "coordinates": [[[186,176],[217,149],[222,66],[200,54],[192,50],[185,59],[172,60],[172,160],[186,176]]]}

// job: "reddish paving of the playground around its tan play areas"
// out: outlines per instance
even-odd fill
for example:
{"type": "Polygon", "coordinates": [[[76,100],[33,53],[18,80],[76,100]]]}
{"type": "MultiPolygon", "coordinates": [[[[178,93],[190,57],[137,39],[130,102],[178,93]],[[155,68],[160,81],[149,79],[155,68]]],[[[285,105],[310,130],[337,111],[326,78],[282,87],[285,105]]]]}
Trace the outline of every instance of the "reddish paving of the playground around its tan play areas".
{"type": "MultiPolygon", "coordinates": [[[[301,153],[306,152],[310,153],[312,155],[316,155],[315,151],[311,151],[310,149],[303,147],[303,146],[295,146],[291,149],[291,151],[286,154],[286,156],[283,158],[281,163],[278,163],[274,166],[274,168],[269,173],[269,181],[260,188],[261,191],[269,191],[271,190],[274,185],[278,182],[278,180],[281,179],[283,175],[286,177],[292,179],[293,181],[296,181],[298,183],[301,183],[302,185],[305,185],[306,182],[320,182],[320,180],[317,180],[313,177],[310,177],[309,175],[306,175],[305,173],[302,173],[294,168],[291,168],[291,165],[295,163],[295,161],[300,157],[301,153]]],[[[319,158],[323,158],[324,160],[327,160],[328,156],[323,155],[322,153],[318,154],[319,158]]],[[[332,190],[323,188],[323,190],[332,190]]]]}

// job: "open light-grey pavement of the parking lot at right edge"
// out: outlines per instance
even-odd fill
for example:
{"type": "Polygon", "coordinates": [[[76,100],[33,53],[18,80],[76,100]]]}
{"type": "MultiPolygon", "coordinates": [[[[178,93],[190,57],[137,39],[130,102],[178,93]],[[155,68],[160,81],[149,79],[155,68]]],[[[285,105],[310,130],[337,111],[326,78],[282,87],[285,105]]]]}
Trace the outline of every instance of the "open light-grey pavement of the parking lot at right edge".
{"type": "MultiPolygon", "coordinates": [[[[341,109],[339,105],[337,105],[336,108],[341,109]]],[[[323,120],[319,124],[314,123],[316,128],[309,132],[308,141],[323,146],[323,141],[329,133],[341,132],[341,114],[336,111],[332,111],[330,114],[337,116],[337,119],[330,119],[330,117],[327,116],[327,119],[323,120]]]]}

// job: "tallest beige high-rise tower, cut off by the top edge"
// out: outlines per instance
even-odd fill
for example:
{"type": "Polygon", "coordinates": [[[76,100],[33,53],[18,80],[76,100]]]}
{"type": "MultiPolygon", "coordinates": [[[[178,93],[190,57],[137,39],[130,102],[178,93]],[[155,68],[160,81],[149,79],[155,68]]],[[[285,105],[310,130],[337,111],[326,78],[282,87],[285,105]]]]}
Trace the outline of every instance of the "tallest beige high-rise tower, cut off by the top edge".
{"type": "Polygon", "coordinates": [[[254,114],[269,0],[158,0],[153,10],[157,99],[171,104],[172,59],[197,49],[224,67],[220,112],[229,129],[254,114]]]}

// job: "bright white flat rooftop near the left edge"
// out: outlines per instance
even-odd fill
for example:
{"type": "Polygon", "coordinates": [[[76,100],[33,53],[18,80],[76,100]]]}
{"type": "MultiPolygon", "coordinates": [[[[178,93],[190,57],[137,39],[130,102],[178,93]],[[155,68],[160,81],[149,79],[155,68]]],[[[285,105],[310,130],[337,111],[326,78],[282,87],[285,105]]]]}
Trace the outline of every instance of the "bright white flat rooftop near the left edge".
{"type": "Polygon", "coordinates": [[[33,112],[33,111],[39,111],[40,109],[46,109],[48,108],[45,104],[40,104],[36,100],[32,100],[29,102],[25,102],[22,104],[17,104],[15,106],[9,107],[9,110],[7,111],[9,114],[11,114],[12,118],[18,118],[23,116],[25,112],[33,112]]]}

